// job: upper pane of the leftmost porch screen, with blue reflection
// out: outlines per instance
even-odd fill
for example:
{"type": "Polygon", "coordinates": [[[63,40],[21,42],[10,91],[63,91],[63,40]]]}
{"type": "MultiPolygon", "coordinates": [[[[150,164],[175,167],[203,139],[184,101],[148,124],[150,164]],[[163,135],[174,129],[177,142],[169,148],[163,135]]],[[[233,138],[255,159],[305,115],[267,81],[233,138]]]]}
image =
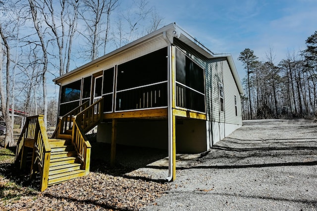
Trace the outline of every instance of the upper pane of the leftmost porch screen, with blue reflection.
{"type": "Polygon", "coordinates": [[[60,103],[76,101],[80,99],[81,80],[62,86],[60,103]]]}

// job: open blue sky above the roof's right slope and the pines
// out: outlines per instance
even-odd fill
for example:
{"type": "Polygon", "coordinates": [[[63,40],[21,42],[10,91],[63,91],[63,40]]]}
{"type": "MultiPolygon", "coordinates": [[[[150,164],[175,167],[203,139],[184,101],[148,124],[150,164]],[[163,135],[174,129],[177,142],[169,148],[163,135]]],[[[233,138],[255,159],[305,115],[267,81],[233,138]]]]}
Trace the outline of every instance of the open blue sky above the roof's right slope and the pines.
{"type": "Polygon", "coordinates": [[[317,0],[149,0],[164,18],[176,22],[213,53],[231,53],[240,79],[245,77],[240,52],[250,48],[266,60],[273,49],[274,63],[287,52],[306,48],[317,31],[317,0]]]}

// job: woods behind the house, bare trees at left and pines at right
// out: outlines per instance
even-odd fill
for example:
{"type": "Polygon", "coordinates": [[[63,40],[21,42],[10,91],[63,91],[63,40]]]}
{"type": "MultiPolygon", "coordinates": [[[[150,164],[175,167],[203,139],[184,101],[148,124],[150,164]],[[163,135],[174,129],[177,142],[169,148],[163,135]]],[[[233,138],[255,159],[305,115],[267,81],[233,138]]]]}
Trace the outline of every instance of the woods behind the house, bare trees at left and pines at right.
{"type": "MultiPolygon", "coordinates": [[[[0,101],[11,145],[9,109],[44,114],[56,123],[58,87],[52,79],[165,25],[147,0],[0,0],[0,101]]],[[[243,119],[313,117],[317,98],[317,32],[306,49],[276,63],[269,47],[259,60],[239,55],[243,119]]],[[[16,122],[17,123],[17,122],[16,122]]],[[[23,122],[18,122],[23,124],[23,122]]]]}

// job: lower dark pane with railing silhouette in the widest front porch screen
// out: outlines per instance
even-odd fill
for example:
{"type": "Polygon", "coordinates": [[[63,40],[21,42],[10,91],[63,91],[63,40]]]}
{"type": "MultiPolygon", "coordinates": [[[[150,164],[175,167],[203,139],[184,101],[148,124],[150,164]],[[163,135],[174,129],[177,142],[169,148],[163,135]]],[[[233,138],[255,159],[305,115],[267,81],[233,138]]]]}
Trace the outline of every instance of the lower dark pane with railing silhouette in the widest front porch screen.
{"type": "Polygon", "coordinates": [[[142,87],[116,94],[116,110],[167,106],[167,83],[142,87]]]}

